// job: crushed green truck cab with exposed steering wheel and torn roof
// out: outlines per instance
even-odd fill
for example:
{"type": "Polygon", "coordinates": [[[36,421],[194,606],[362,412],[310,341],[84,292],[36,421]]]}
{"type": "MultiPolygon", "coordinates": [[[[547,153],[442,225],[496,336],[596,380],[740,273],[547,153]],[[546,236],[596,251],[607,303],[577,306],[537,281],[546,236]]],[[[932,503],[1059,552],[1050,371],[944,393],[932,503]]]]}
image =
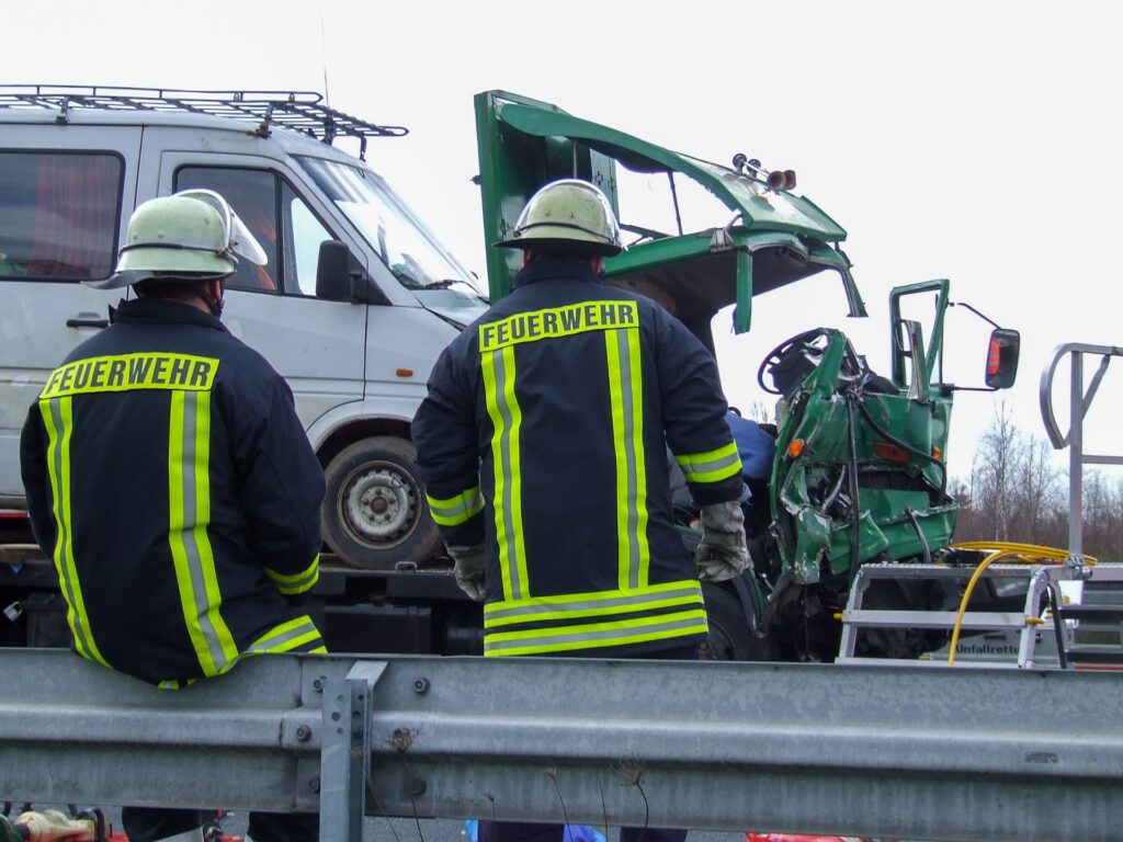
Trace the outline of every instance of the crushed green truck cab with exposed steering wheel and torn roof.
{"type": "MultiPolygon", "coordinates": [[[[791,171],[769,172],[743,155],[732,166],[709,163],[503,91],[478,94],[475,108],[489,244],[511,236],[538,187],[586,179],[632,235],[623,254],[605,260],[605,283],[658,301],[711,353],[720,310],[734,305],[734,330],[748,331],[756,296],[824,271],[837,273],[848,314],[866,315],[840,248],[846,230],[793,191],[791,171]],[[632,225],[621,214],[621,168],[666,176],[675,230],[632,225]],[[685,230],[678,205],[688,184],[716,199],[725,218],[685,230]]],[[[489,248],[492,300],[510,291],[519,258],[489,248]]],[[[891,377],[870,370],[838,330],[801,333],[767,355],[758,379],[779,396],[776,458],[767,511],[749,534],[752,568],[728,588],[707,588],[711,626],[727,648],[720,655],[830,660],[838,650],[836,614],[859,565],[931,561],[950,543],[957,506],[947,493],[943,454],[956,387],[941,382],[949,304],[947,281],[893,291],[891,377]],[[902,303],[916,296],[934,303],[926,338],[921,322],[902,315],[902,303]]],[[[1016,331],[995,327],[987,388],[1012,385],[1017,366],[1016,331]]]]}

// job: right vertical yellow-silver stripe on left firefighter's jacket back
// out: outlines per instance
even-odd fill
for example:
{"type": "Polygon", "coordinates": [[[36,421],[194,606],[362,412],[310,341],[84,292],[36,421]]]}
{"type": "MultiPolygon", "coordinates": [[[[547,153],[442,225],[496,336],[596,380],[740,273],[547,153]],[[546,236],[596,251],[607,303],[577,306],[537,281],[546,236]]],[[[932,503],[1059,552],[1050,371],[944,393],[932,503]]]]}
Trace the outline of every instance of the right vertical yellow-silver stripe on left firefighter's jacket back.
{"type": "Polygon", "coordinates": [[[225,672],[238,657],[219,613],[210,523],[210,393],[173,392],[168,424],[168,544],[180,605],[204,676],[225,672]]]}

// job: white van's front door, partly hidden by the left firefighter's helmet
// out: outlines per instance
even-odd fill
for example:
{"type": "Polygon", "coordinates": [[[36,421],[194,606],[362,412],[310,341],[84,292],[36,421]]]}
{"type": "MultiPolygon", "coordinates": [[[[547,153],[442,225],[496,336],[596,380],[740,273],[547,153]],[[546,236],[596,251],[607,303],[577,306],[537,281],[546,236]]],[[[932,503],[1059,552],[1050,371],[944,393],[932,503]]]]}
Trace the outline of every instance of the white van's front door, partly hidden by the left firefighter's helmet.
{"type": "Polygon", "coordinates": [[[265,250],[265,266],[243,260],[228,281],[222,321],[289,382],[304,429],[340,404],[362,401],[366,308],[316,298],[320,242],[339,232],[301,194],[294,174],[245,155],[165,152],[159,181],[161,193],[218,192],[265,250]]]}

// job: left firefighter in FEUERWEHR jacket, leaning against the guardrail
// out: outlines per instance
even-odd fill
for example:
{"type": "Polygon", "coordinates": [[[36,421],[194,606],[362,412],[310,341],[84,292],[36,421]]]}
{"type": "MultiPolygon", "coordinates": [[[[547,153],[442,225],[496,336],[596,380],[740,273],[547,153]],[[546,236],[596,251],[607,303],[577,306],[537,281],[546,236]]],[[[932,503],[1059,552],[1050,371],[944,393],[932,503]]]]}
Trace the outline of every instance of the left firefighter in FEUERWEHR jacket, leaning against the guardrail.
{"type": "MultiPolygon", "coordinates": [[[[20,442],[36,539],[74,649],[176,688],[265,652],[322,652],[302,595],[319,570],[323,473],[284,379],[219,320],[234,253],[263,260],[210,191],[145,202],[112,324],[47,379],[20,442]]],[[[131,842],[201,839],[198,811],[126,808],[131,842]]],[[[249,835],[314,839],[316,816],[249,835]]]]}

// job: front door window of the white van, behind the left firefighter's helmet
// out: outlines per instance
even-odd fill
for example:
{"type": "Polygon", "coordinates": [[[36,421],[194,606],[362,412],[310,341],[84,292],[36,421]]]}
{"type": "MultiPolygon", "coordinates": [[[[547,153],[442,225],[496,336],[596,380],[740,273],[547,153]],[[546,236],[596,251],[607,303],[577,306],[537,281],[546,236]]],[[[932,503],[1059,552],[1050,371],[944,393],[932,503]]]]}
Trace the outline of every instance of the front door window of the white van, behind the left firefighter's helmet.
{"type": "Polygon", "coordinates": [[[316,294],[320,242],[331,239],[296,191],[272,170],[182,166],[175,189],[207,187],[226,199],[268,258],[264,266],[241,259],[227,285],[238,290],[316,294]],[[277,220],[280,219],[280,225],[277,220]]]}

